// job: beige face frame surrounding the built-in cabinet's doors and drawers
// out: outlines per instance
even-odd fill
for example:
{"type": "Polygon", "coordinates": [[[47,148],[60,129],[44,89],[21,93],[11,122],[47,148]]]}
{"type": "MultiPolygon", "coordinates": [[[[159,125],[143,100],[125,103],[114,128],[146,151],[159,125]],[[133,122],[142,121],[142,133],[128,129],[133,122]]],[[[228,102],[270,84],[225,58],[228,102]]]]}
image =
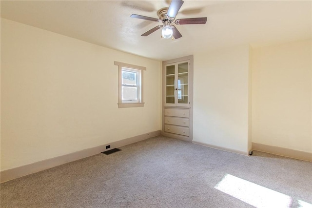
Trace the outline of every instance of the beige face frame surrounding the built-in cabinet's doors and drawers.
{"type": "Polygon", "coordinates": [[[193,70],[194,70],[194,56],[185,56],[178,59],[168,60],[162,62],[162,130],[161,134],[164,136],[192,142],[193,140],[193,70]],[[176,104],[166,104],[166,65],[174,65],[176,63],[189,62],[188,66],[188,105],[181,106],[176,104]],[[165,132],[165,108],[166,109],[188,109],[189,110],[189,136],[178,135],[174,133],[165,132]]]}

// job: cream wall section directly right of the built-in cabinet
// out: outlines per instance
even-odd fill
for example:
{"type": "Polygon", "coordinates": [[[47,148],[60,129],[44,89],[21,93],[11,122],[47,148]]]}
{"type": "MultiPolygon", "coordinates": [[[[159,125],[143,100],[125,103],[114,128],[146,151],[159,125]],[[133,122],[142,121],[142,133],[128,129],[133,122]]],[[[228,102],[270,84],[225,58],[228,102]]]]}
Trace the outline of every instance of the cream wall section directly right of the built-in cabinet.
{"type": "Polygon", "coordinates": [[[248,45],[194,54],[193,141],[248,153],[248,45]]]}

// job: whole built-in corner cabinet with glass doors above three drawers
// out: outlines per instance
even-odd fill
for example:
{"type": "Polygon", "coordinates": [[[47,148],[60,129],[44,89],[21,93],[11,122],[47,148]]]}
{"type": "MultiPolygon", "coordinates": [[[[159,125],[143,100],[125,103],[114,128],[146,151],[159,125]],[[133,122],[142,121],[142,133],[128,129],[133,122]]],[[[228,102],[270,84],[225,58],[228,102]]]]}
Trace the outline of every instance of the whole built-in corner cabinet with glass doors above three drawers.
{"type": "Polygon", "coordinates": [[[193,56],[162,62],[162,134],[192,141],[193,56]]]}

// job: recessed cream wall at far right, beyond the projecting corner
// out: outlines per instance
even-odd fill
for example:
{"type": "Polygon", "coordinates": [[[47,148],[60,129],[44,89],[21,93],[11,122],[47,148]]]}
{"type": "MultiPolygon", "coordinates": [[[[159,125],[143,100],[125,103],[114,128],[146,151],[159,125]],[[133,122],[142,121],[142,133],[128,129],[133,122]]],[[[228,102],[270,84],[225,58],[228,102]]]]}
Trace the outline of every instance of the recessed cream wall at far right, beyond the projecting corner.
{"type": "Polygon", "coordinates": [[[252,140],[312,152],[311,40],[253,50],[252,140]]]}

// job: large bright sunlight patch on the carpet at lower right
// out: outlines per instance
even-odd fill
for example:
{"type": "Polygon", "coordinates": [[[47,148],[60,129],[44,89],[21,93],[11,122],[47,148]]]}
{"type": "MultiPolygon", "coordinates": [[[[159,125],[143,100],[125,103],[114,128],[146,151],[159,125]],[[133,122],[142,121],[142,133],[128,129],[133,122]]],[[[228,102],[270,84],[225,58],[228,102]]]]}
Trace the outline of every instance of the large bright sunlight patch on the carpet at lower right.
{"type": "Polygon", "coordinates": [[[230,174],[225,174],[215,188],[257,208],[289,208],[292,205],[292,197],[230,174]]]}

